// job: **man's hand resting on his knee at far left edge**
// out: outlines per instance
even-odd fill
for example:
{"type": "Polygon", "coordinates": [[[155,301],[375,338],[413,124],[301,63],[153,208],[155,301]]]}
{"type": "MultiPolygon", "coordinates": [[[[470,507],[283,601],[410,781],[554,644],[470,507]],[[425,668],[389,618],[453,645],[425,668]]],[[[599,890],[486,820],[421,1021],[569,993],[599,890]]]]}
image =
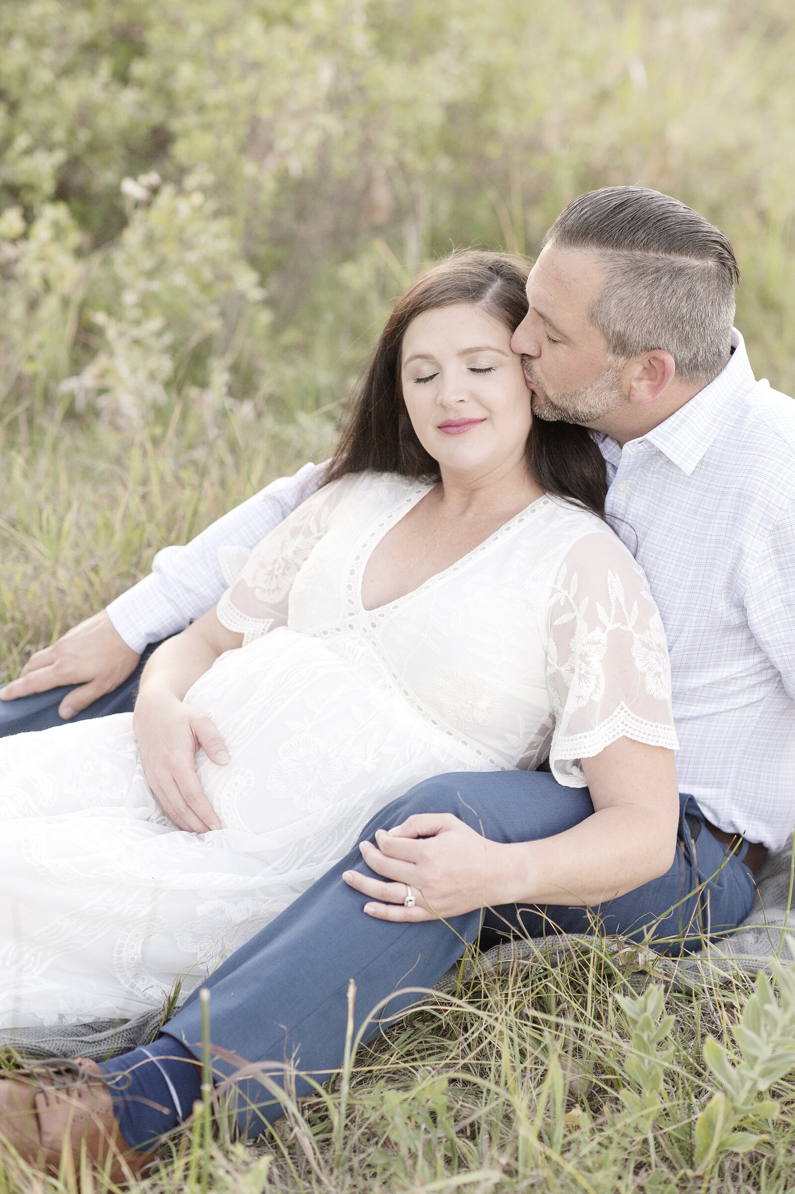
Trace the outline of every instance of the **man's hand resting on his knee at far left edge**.
{"type": "Polygon", "coordinates": [[[103,610],[67,630],[51,647],[31,656],[19,679],[0,690],[0,701],[47,693],[61,684],[79,684],[58,706],[58,715],[68,720],[123,684],[140,658],[103,610]]]}

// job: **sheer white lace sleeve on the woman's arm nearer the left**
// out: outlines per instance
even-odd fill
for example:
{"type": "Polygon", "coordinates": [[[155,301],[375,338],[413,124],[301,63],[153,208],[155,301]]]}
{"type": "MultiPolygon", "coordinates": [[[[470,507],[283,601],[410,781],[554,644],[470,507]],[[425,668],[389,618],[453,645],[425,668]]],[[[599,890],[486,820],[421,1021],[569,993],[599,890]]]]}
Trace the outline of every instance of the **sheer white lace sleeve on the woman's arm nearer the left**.
{"type": "Polygon", "coordinates": [[[326,534],[331,513],[349,482],[344,476],[307,498],[253,552],[218,549],[218,564],[230,585],[218,602],[218,621],[242,634],[244,646],[286,624],[292,581],[326,534]]]}

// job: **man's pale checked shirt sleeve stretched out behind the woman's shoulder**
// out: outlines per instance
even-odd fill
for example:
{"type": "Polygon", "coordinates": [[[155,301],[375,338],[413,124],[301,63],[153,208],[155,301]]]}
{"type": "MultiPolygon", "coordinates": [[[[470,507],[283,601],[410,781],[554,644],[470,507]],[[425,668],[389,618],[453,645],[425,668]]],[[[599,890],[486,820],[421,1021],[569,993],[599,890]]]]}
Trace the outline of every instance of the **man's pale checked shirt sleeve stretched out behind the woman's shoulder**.
{"type": "Polygon", "coordinates": [[[158,552],[149,576],[107,607],[127,645],[140,654],[148,644],[184,630],[212,609],[227,589],[218,548],[254,548],[315,492],[322,470],[322,464],[304,464],[223,515],[185,547],[158,552]]]}

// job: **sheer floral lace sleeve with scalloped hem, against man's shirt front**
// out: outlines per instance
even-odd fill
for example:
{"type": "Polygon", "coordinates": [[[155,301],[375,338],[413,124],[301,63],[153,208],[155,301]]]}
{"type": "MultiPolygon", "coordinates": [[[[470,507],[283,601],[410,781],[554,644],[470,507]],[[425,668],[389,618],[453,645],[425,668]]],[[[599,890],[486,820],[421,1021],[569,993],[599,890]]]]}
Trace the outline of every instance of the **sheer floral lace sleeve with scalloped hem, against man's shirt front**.
{"type": "Polygon", "coordinates": [[[580,759],[618,738],[678,749],[662,621],[642,568],[617,537],[597,531],[567,552],[548,630],[549,765],[559,783],[584,787],[580,759]]]}

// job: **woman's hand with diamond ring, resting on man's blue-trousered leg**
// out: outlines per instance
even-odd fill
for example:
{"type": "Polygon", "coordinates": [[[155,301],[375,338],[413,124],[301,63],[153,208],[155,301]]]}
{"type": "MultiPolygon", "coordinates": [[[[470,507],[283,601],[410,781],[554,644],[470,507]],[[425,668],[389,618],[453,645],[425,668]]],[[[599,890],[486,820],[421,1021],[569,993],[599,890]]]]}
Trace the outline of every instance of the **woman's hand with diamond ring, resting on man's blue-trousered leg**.
{"type": "Polygon", "coordinates": [[[485,905],[505,903],[500,892],[506,848],[476,833],[452,813],[417,813],[387,832],[377,845],[359,850],[383,880],[346,870],[343,879],[374,903],[368,916],[380,921],[446,921],[485,905]],[[405,907],[406,886],[417,900],[405,907]]]}

